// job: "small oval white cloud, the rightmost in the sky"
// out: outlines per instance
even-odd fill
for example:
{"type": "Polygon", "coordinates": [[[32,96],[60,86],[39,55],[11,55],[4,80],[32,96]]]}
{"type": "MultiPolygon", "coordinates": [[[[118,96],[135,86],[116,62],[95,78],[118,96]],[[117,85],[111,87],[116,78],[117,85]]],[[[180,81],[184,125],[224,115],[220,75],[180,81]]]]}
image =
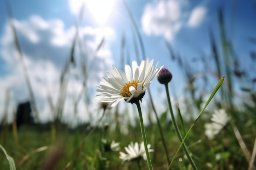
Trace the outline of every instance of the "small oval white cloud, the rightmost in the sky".
{"type": "Polygon", "coordinates": [[[188,25],[191,27],[199,26],[205,18],[207,9],[205,7],[195,7],[189,17],[188,25]]]}

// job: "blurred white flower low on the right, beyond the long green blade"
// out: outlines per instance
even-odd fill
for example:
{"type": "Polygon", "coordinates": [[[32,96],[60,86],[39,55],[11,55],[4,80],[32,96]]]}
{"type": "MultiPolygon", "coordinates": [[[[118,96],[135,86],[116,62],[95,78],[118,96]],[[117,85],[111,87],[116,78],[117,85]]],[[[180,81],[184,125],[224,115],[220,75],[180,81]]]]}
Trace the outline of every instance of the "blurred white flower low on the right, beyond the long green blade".
{"type": "Polygon", "coordinates": [[[205,135],[208,139],[213,139],[222,128],[226,126],[229,121],[229,117],[225,111],[225,109],[215,110],[214,114],[211,117],[212,123],[207,123],[204,125],[205,127],[205,135]]]}

